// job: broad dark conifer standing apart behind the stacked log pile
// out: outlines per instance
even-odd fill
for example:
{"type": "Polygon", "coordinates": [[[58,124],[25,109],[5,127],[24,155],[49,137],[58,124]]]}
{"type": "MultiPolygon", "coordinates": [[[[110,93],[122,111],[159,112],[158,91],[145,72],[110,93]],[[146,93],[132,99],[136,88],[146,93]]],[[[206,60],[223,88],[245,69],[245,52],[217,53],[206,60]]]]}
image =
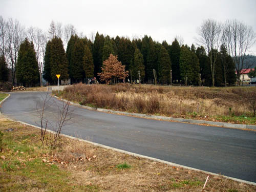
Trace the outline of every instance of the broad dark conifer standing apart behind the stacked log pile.
{"type": "Polygon", "coordinates": [[[32,87],[40,82],[34,45],[27,38],[19,47],[16,78],[23,86],[32,87]]]}

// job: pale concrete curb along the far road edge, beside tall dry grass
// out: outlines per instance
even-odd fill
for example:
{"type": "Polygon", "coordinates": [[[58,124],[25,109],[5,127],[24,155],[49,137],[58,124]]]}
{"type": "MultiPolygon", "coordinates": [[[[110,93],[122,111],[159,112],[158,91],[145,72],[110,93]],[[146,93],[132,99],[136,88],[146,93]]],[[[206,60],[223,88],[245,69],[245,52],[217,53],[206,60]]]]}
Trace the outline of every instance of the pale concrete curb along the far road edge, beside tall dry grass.
{"type": "MultiPolygon", "coordinates": [[[[54,96],[54,97],[59,99],[59,97],[57,97],[57,96],[54,96]]],[[[67,102],[66,99],[61,99],[61,100],[67,102]]],[[[122,111],[113,111],[113,110],[106,110],[106,109],[100,109],[100,108],[92,108],[91,106],[84,106],[84,105],[80,105],[80,104],[73,103],[73,102],[70,102],[70,104],[79,106],[80,108],[83,108],[83,109],[118,114],[118,115],[127,115],[127,116],[134,116],[134,117],[140,117],[140,118],[167,120],[167,121],[175,121],[175,122],[182,122],[182,123],[207,124],[207,125],[212,125],[212,126],[221,126],[221,127],[235,128],[235,129],[241,129],[241,130],[245,130],[245,129],[256,130],[256,125],[232,124],[232,123],[225,123],[225,122],[215,122],[215,121],[205,121],[205,120],[195,120],[195,119],[182,119],[182,118],[165,117],[165,116],[158,116],[158,115],[146,115],[146,114],[140,114],[140,113],[128,113],[128,112],[122,112],[122,111]]]]}

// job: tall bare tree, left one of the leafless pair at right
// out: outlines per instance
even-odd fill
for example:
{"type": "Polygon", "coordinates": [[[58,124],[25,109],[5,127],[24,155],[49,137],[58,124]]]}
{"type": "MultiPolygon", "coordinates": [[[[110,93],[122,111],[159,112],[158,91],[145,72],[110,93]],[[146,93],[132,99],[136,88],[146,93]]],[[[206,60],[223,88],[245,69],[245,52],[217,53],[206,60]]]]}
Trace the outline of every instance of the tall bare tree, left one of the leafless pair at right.
{"type": "Polygon", "coordinates": [[[198,29],[199,42],[198,45],[203,45],[210,58],[210,70],[212,78],[212,86],[215,86],[215,63],[218,54],[214,54],[214,50],[219,50],[221,44],[222,25],[215,20],[204,20],[198,29]]]}

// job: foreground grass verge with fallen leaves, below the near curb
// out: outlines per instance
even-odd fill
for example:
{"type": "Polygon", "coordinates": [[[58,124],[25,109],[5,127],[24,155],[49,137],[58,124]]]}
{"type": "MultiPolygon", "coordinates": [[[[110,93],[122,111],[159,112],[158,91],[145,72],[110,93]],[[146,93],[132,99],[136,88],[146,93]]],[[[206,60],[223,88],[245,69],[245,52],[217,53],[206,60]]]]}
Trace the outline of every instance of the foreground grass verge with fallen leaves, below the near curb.
{"type": "MultiPolygon", "coordinates": [[[[0,153],[5,156],[5,160],[0,158],[1,191],[202,191],[207,177],[201,172],[65,137],[61,147],[49,151],[40,145],[39,130],[4,118],[0,118],[0,130],[5,133],[5,147],[0,153]],[[4,131],[9,128],[14,131],[4,131]],[[18,153],[15,147],[19,148],[18,153]],[[4,163],[15,159],[20,161],[19,169],[3,168],[4,163]],[[131,168],[119,169],[120,163],[131,168]]],[[[232,190],[255,191],[256,186],[210,176],[205,188],[205,191],[232,190]]]]}

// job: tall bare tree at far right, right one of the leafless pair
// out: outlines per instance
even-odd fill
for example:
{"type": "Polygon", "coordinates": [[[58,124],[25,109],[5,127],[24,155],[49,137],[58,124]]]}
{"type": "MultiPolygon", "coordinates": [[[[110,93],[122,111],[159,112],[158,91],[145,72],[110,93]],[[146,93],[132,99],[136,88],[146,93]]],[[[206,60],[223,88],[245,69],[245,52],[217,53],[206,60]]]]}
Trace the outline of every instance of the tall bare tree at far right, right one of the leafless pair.
{"type": "Polygon", "coordinates": [[[250,67],[249,63],[245,62],[245,56],[246,52],[255,44],[255,37],[251,26],[247,26],[236,19],[227,20],[225,23],[222,41],[236,65],[239,85],[241,83],[241,71],[250,67]]]}

